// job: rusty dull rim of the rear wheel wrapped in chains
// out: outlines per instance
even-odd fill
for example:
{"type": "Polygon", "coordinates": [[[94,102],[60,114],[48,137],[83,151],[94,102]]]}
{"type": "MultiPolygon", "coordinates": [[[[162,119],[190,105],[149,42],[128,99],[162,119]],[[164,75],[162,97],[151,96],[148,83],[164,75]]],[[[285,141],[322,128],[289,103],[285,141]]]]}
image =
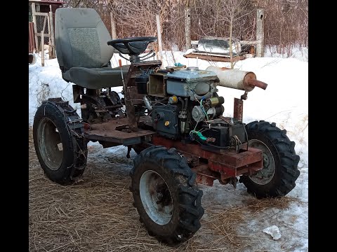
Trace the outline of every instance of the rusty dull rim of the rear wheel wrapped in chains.
{"type": "Polygon", "coordinates": [[[57,171],[63,160],[63,145],[60,132],[48,118],[43,118],[37,129],[37,138],[41,158],[48,169],[57,171]]]}

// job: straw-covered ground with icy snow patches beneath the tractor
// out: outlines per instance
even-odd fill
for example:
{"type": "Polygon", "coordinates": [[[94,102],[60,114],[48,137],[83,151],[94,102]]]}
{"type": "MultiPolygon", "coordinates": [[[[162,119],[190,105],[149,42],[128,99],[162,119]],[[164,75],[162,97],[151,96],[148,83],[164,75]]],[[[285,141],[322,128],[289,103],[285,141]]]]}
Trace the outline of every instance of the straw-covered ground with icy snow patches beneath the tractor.
{"type": "Polygon", "coordinates": [[[296,228],[299,217],[293,214],[307,209],[300,214],[307,215],[308,230],[308,202],[296,196],[300,193],[256,200],[242,184],[234,190],[218,182],[200,186],[205,214],[194,237],[175,248],[160,244],[132,206],[128,171],[136,153],[127,159],[126,148],[120,150],[88,146],[81,181],[60,186],[44,176],[30,135],[29,251],[308,251],[308,232],[296,228]],[[262,232],[270,225],[281,231],[277,241],[262,232]]]}

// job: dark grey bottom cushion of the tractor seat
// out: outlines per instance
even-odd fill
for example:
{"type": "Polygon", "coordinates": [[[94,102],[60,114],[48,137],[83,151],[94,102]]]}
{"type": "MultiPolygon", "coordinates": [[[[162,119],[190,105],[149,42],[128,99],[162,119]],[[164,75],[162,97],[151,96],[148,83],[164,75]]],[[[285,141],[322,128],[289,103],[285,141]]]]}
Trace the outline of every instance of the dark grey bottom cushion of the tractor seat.
{"type": "MultiPolygon", "coordinates": [[[[128,73],[129,65],[122,66],[124,79],[128,73]]],[[[90,89],[100,89],[105,87],[119,87],[123,85],[121,80],[121,69],[116,67],[85,68],[74,66],[65,73],[62,73],[65,80],[90,89]]]]}

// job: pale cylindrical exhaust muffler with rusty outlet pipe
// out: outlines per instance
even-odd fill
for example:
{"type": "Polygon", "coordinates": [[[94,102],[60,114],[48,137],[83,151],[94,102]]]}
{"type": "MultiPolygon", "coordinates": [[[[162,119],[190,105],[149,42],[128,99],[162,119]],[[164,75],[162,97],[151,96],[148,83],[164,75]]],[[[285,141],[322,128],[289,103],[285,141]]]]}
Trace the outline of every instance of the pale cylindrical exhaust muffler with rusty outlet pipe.
{"type": "Polygon", "coordinates": [[[267,88],[267,84],[260,80],[256,80],[255,73],[251,71],[241,71],[216,66],[209,66],[206,70],[216,73],[220,80],[218,85],[222,87],[230,87],[237,90],[244,90],[246,92],[251,92],[254,87],[260,87],[263,90],[267,88]]]}

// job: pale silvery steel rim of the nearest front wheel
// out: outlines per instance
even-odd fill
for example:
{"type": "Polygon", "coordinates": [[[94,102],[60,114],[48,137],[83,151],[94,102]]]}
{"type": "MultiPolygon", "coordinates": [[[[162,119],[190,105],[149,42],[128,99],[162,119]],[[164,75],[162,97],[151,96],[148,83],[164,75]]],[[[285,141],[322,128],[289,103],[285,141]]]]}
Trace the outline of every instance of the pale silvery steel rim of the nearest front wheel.
{"type": "Polygon", "coordinates": [[[147,170],[140,177],[140,200],[147,216],[158,225],[166,225],[173,215],[171,191],[164,179],[152,170],[147,170]]]}

